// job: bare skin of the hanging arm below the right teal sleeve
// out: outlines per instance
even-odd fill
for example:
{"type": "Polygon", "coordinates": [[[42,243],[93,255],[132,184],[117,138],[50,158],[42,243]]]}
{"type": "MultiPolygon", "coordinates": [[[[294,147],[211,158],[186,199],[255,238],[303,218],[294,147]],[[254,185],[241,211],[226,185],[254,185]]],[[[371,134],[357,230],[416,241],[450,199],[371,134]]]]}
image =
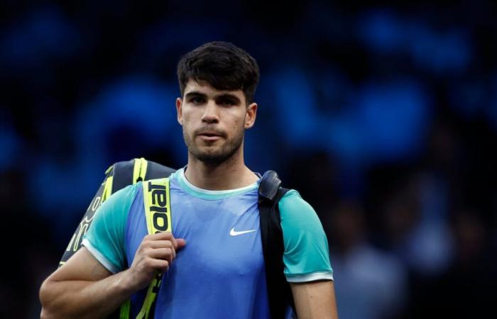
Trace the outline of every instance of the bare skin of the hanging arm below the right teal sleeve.
{"type": "Polygon", "coordinates": [[[290,283],[299,319],[338,319],[333,281],[290,283]]]}

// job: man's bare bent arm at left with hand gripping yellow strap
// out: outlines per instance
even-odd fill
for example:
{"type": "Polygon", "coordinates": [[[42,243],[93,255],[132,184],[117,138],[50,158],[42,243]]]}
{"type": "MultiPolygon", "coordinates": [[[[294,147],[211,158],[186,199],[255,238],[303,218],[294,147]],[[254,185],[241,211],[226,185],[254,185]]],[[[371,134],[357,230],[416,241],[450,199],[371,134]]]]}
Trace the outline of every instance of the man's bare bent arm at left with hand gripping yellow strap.
{"type": "Polygon", "coordinates": [[[105,318],[133,293],[148,286],[155,272],[163,272],[185,240],[171,233],[143,238],[131,267],[111,274],[82,247],[40,288],[41,318],[105,318]]]}

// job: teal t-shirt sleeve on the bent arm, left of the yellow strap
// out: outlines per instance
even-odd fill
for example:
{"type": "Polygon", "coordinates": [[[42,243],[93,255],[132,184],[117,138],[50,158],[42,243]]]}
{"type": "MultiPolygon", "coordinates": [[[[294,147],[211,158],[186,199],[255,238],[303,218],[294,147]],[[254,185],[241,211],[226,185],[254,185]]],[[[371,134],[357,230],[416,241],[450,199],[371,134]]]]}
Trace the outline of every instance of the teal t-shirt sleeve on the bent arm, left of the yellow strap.
{"type": "Polygon", "coordinates": [[[110,272],[125,268],[124,233],[129,208],[141,183],[116,191],[102,203],[94,215],[92,225],[83,236],[83,245],[110,272]]]}

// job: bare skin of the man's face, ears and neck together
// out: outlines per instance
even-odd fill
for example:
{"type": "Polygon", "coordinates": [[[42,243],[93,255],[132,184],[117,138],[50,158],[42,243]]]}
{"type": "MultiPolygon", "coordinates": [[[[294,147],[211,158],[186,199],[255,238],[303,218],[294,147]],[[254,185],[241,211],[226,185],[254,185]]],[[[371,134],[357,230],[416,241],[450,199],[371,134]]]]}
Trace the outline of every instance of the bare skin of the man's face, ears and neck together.
{"type": "Polygon", "coordinates": [[[178,123],[188,147],[185,176],[197,187],[236,189],[258,179],[244,163],[244,130],[256,121],[257,104],[246,105],[244,92],[217,91],[190,79],[183,99],[176,99],[178,123]],[[202,133],[218,135],[206,140],[202,133]],[[207,159],[207,160],[206,160],[207,159]]]}

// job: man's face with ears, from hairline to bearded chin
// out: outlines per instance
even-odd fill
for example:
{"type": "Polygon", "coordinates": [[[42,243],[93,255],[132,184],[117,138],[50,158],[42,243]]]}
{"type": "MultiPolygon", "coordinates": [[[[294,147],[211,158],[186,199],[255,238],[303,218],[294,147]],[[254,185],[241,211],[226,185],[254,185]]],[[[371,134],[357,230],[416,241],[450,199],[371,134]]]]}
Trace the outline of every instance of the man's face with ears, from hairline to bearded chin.
{"type": "Polygon", "coordinates": [[[217,91],[207,82],[190,79],[176,108],[190,155],[221,164],[241,152],[244,130],[253,126],[257,104],[247,106],[241,90],[217,91]]]}

